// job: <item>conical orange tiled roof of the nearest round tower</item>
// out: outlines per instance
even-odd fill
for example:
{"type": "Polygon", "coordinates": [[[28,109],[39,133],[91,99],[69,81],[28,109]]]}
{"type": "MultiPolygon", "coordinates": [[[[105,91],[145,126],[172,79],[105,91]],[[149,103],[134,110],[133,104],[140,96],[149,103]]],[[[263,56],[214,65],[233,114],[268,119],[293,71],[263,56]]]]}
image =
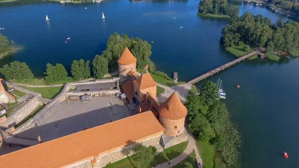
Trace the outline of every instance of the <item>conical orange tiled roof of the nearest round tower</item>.
{"type": "Polygon", "coordinates": [[[179,120],[187,115],[187,109],[179,100],[177,94],[172,95],[159,106],[159,114],[168,120],[179,120]]]}

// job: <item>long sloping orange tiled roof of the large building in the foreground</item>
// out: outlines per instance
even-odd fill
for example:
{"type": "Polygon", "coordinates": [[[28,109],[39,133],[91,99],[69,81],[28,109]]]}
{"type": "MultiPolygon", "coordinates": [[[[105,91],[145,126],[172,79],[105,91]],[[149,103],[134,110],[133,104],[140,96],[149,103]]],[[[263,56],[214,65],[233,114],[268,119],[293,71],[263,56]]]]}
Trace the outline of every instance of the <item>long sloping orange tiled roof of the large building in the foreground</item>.
{"type": "Polygon", "coordinates": [[[0,156],[1,168],[60,168],[163,131],[149,111],[0,156]]]}

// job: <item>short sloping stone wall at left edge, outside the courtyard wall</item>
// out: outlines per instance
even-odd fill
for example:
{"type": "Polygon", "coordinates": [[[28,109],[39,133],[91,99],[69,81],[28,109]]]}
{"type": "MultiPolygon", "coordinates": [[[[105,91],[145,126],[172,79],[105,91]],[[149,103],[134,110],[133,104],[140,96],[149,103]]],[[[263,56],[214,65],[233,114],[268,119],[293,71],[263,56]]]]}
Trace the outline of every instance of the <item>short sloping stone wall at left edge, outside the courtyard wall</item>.
{"type": "Polygon", "coordinates": [[[4,122],[0,123],[0,127],[2,129],[7,129],[11,126],[15,126],[24,118],[26,118],[34,109],[42,105],[42,103],[39,102],[38,97],[39,96],[34,96],[32,99],[26,102],[22,107],[20,107],[15,112],[13,112],[10,116],[7,117],[7,119],[4,122]]]}

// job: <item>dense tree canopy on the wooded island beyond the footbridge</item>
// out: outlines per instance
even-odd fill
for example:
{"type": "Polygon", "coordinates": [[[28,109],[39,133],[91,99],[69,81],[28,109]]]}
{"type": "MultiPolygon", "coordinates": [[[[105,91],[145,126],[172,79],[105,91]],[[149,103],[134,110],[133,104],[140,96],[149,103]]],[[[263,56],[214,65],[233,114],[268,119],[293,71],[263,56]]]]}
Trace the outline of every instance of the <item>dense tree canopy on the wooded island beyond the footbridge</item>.
{"type": "Polygon", "coordinates": [[[221,41],[225,46],[237,45],[240,41],[248,45],[266,47],[268,51],[291,51],[299,49],[299,23],[271,23],[268,17],[245,12],[232,18],[222,29],[221,41]]]}

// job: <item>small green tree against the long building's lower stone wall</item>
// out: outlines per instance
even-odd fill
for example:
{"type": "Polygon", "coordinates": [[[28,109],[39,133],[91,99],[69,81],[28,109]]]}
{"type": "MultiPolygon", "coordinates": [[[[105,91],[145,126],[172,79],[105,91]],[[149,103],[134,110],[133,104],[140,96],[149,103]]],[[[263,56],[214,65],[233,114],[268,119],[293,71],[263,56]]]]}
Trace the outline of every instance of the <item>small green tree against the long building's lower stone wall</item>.
{"type": "Polygon", "coordinates": [[[138,163],[139,168],[148,168],[153,161],[154,152],[151,147],[138,144],[133,151],[136,153],[132,156],[133,160],[138,163]]]}

